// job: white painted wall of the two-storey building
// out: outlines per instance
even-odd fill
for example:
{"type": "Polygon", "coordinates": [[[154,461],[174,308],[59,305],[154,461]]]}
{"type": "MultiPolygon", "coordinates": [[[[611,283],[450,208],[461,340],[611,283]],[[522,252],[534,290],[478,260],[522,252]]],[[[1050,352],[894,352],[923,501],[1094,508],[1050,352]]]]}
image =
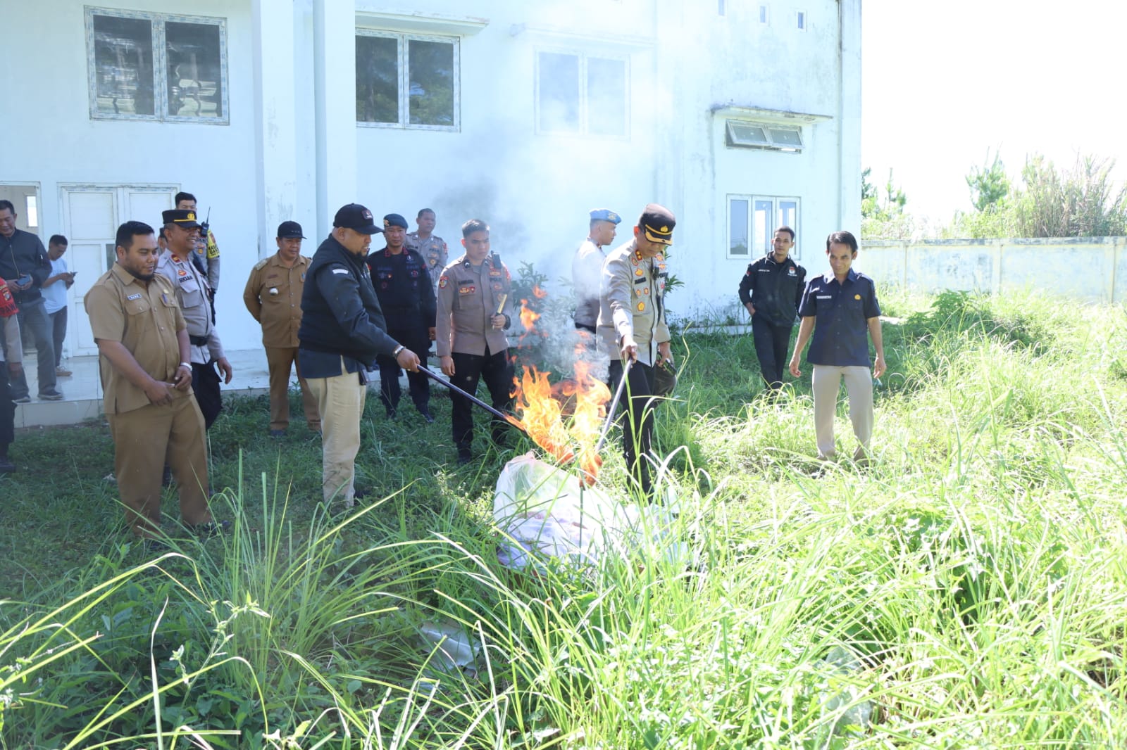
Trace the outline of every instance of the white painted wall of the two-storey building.
{"type": "MultiPolygon", "coordinates": [[[[767,26],[757,23],[757,2],[729,1],[725,16],[712,1],[399,3],[405,12],[488,20],[461,37],[459,132],[355,125],[352,36],[357,16],[366,23],[365,14],[388,10],[373,0],[199,0],[187,10],[106,0],[99,7],[227,19],[230,125],[91,120],[83,5],[6,7],[0,65],[19,71],[7,96],[28,109],[7,118],[0,176],[42,185],[47,234],[59,226],[60,184],[195,193],[212,208],[223,251],[228,348],[258,346],[241,291],[251,266],[273,252],[277,223],[301,222],[312,252],[347,200],[411,222],[420,207],[434,208],[454,255],[460,224],[485,218],[514,273],[532,261],[553,280],[569,274],[587,211],[625,216],[624,239],[646,203],[664,203],[678,218],[672,270],[686,282],[671,304],[686,315],[736,304],[747,260],[726,258],[729,193],[799,196],[804,260],[820,256],[828,232],[860,222],[860,0],[771,0],[767,26]],[[795,25],[799,9],[805,32],[795,25]],[[628,139],[535,133],[543,48],[629,56],[628,139]],[[724,117],[712,114],[729,104],[826,119],[804,127],[801,154],[730,149],[724,117]]],[[[92,280],[79,280],[76,294],[92,280]]]]}

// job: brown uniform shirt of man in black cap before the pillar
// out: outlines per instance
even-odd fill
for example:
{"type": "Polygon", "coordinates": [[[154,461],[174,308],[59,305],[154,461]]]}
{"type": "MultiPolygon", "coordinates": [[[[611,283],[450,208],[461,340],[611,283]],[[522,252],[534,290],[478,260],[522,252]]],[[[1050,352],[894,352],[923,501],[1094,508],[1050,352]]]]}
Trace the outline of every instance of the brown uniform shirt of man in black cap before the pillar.
{"type": "Polygon", "coordinates": [[[242,291],[247,310],[263,325],[264,347],[298,347],[301,325],[301,294],[305,288],[309,258],[298,256],[286,268],[278,253],[255,265],[242,291]]]}

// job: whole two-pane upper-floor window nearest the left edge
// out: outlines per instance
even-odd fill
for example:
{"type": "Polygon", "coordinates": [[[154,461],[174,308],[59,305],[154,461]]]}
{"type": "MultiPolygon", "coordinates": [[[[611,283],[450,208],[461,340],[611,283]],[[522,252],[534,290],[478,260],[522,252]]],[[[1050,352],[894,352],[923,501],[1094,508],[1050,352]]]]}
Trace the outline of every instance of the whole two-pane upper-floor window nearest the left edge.
{"type": "Polygon", "coordinates": [[[227,125],[227,21],[86,9],[90,117],[227,125]]]}

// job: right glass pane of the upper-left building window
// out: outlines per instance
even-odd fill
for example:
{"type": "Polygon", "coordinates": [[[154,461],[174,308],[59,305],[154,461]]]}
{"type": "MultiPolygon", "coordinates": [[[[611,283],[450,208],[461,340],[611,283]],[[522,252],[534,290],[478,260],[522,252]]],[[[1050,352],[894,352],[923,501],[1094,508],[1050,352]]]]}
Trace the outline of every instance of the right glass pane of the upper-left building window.
{"type": "Polygon", "coordinates": [[[223,74],[220,29],[214,24],[165,24],[168,55],[168,114],[222,117],[223,74]]]}

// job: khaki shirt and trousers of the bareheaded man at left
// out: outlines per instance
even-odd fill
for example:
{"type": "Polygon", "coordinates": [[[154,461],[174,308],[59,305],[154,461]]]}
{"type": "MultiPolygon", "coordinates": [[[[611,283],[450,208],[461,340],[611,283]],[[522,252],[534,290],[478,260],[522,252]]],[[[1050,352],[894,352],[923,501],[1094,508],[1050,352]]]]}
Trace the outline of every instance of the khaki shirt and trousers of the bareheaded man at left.
{"type": "MultiPolygon", "coordinates": [[[[122,343],[151,377],[175,381],[180,364],[177,332],[185,321],[167,277],[157,275],[145,284],[115,264],[87,292],[86,311],[96,340],[122,343]]],[[[180,490],[184,521],[210,521],[204,418],[190,389],[169,386],[171,403],[158,407],[108,358],[100,357],[99,365],[114,438],[114,473],[134,533],[148,536],[160,529],[160,475],[166,463],[180,490]]]]}

